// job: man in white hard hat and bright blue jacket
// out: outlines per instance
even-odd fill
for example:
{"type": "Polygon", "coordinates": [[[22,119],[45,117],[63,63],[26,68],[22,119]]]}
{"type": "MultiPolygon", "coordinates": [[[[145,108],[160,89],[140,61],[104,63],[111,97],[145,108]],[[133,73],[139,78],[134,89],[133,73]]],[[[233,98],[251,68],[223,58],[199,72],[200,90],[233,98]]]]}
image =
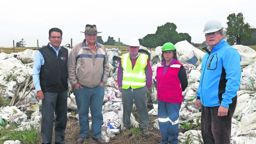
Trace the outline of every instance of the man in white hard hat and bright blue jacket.
{"type": "Polygon", "coordinates": [[[241,56],[223,39],[218,20],[205,23],[209,45],[202,60],[200,84],[195,106],[201,109],[201,132],[204,144],[230,144],[231,119],[240,86],[241,56]]]}

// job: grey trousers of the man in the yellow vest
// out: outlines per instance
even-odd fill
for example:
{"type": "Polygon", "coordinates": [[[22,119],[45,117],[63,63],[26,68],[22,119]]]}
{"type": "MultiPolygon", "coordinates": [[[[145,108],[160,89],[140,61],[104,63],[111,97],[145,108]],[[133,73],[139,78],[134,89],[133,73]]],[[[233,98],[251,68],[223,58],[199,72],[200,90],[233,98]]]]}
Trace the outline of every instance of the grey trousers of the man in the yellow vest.
{"type": "Polygon", "coordinates": [[[136,89],[122,89],[123,126],[130,128],[130,115],[133,110],[133,99],[139,114],[141,129],[148,130],[149,115],[147,111],[147,90],[145,86],[136,89]]]}

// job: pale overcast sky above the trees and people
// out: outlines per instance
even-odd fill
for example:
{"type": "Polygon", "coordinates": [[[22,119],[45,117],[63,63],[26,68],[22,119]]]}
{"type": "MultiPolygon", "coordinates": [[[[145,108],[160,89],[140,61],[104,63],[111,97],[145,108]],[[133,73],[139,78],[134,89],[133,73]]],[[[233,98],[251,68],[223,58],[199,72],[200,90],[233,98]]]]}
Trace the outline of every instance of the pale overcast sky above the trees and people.
{"type": "Polygon", "coordinates": [[[143,38],[167,22],[192,42],[205,40],[204,23],[218,19],[227,27],[229,14],[242,12],[256,28],[256,0],[0,0],[0,47],[12,47],[22,38],[26,46],[47,45],[50,28],[63,32],[62,46],[84,39],[86,24],[95,24],[103,41],[108,36],[127,44],[143,38]]]}

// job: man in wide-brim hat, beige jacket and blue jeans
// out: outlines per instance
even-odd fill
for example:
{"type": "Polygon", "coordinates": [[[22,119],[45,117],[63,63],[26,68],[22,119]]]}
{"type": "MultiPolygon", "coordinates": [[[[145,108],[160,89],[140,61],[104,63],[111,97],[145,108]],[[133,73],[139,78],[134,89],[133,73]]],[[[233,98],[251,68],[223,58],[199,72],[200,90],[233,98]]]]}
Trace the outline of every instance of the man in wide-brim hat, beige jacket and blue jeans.
{"type": "Polygon", "coordinates": [[[103,121],[102,104],[104,86],[109,75],[109,57],[106,48],[96,42],[95,25],[85,26],[85,39],[76,44],[69,55],[69,81],[74,87],[74,94],[79,115],[78,143],[83,143],[90,130],[88,113],[92,115],[92,138],[97,144],[105,144],[101,135],[103,121]]]}

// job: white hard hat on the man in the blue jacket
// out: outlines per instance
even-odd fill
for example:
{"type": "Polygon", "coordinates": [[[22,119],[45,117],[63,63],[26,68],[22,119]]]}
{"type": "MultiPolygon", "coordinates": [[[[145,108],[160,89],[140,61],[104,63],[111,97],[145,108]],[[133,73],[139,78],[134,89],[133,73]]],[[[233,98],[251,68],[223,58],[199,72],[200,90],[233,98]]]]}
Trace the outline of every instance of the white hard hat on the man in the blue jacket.
{"type": "Polygon", "coordinates": [[[211,19],[207,21],[204,25],[204,33],[213,33],[221,29],[223,29],[223,27],[220,21],[216,19],[211,19]]]}

